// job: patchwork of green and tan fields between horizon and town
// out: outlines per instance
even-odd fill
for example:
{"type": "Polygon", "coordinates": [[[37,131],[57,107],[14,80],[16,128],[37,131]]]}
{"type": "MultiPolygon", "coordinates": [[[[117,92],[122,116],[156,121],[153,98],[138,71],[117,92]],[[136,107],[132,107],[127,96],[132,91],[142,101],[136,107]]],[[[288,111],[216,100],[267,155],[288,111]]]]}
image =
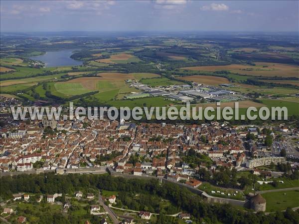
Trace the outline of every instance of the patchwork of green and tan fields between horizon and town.
{"type": "MultiPolygon", "coordinates": [[[[187,36],[116,37],[111,45],[107,45],[107,40],[102,41],[97,38],[90,41],[87,43],[71,37],[51,37],[42,41],[36,39],[35,42],[39,44],[33,43],[35,47],[31,46],[30,49],[17,50],[9,47],[4,51],[1,49],[1,53],[5,52],[5,56],[0,61],[3,71],[0,75],[1,92],[12,95],[22,92],[23,97],[30,98],[32,101],[39,99],[53,102],[59,99],[55,98],[57,96],[65,102],[74,99],[73,96],[78,96],[75,98],[79,100],[82,95],[80,103],[87,102],[90,105],[105,103],[132,106],[146,103],[153,106],[169,104],[180,106],[180,101],[170,101],[165,96],[134,100],[124,100],[124,97],[145,91],[133,85],[130,87],[131,83],[136,81],[150,88],[160,86],[165,91],[169,91],[167,88],[172,88],[169,87],[171,85],[196,82],[202,84],[204,88],[204,85],[207,85],[207,88],[211,86],[211,89],[222,88],[235,91],[236,98],[231,96],[228,97],[230,99],[221,100],[222,105],[229,106],[233,102],[224,103],[224,101],[240,99],[242,109],[248,106],[266,105],[262,101],[259,103],[253,101],[253,94],[260,94],[261,100],[267,100],[269,97],[288,97],[280,99],[284,104],[288,104],[293,102],[288,101],[290,97],[294,97],[298,92],[296,86],[299,84],[296,78],[299,66],[296,63],[288,64],[284,60],[269,62],[235,59],[236,55],[243,54],[253,56],[276,54],[271,53],[271,50],[284,50],[284,53],[291,57],[290,55],[293,55],[297,49],[294,44],[284,46],[280,43],[272,46],[263,43],[263,46],[260,46],[256,44],[256,40],[250,40],[251,44],[227,40],[229,45],[224,46],[219,40],[187,36]],[[53,49],[59,51],[62,48],[71,49],[70,57],[82,61],[82,65],[34,67],[32,60],[27,58],[53,49]],[[265,76],[265,79],[260,75],[265,76]],[[257,82],[254,84],[250,80],[257,82]],[[232,84],[232,86],[220,87],[220,84],[232,84]],[[51,98],[51,95],[54,98],[51,98]],[[241,99],[238,95],[245,97],[241,99]]],[[[294,58],[296,59],[296,55],[294,58]]],[[[185,87],[174,88],[177,88],[174,92],[177,94],[180,88],[185,87]]],[[[196,101],[197,105],[201,105],[200,99],[196,101]]],[[[205,103],[202,106],[213,106],[213,104],[205,103]]],[[[292,108],[292,105],[288,107],[292,108]]],[[[291,109],[291,114],[293,113],[294,110],[291,109]]]]}

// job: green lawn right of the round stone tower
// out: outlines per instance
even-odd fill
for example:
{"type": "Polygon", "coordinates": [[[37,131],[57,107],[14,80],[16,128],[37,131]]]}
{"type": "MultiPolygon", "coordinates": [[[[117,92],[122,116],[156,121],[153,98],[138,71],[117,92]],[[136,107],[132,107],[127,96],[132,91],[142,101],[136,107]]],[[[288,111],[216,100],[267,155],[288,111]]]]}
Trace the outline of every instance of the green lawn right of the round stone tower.
{"type": "Polygon", "coordinates": [[[299,191],[271,192],[262,194],[266,199],[266,212],[283,211],[299,206],[299,191]]]}

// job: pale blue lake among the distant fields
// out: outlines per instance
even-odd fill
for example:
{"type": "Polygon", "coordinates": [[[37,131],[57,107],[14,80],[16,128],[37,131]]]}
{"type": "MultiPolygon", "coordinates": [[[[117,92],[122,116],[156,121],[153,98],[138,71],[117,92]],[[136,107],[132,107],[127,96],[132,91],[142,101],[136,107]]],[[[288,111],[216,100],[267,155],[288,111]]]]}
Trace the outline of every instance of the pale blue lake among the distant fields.
{"type": "Polygon", "coordinates": [[[82,61],[77,61],[70,56],[73,50],[49,51],[44,55],[29,57],[32,60],[38,60],[45,63],[46,67],[81,65],[82,61]]]}

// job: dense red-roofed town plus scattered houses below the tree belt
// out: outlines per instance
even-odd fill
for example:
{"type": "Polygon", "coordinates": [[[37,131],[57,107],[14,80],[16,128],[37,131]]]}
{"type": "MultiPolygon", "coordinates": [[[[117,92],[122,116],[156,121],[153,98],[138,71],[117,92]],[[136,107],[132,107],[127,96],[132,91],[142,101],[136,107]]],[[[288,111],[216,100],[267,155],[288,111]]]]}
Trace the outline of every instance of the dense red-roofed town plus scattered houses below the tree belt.
{"type": "MultiPolygon", "coordinates": [[[[1,97],[1,102],[2,112],[7,110],[8,105],[21,105],[11,98],[1,97]]],[[[256,194],[260,186],[277,182],[284,184],[281,180],[284,173],[270,167],[285,167],[287,159],[291,170],[295,171],[299,166],[298,146],[290,137],[299,136],[299,131],[285,124],[277,127],[232,126],[228,122],[217,121],[201,124],[121,124],[109,119],[56,121],[48,120],[46,116],[42,121],[15,121],[5,113],[1,114],[1,123],[4,124],[0,139],[0,169],[3,175],[22,172],[62,175],[109,173],[115,177],[154,178],[195,189],[214,202],[238,201],[245,206],[248,199],[249,208],[265,212],[266,201],[256,194]],[[211,188],[209,182],[223,184],[224,180],[219,177],[223,171],[249,172],[260,178],[257,183],[247,186],[247,193],[224,187],[211,188]]],[[[81,198],[82,195],[82,192],[76,192],[74,197],[81,198]]],[[[86,200],[91,201],[98,193],[84,195],[86,200]]],[[[29,199],[28,194],[13,197],[14,201],[29,199]]],[[[42,197],[37,201],[41,201],[42,197]]],[[[61,194],[44,197],[47,203],[54,203],[61,194]]],[[[107,208],[117,209],[113,206],[115,195],[99,197],[102,197],[101,202],[108,202],[107,208]]],[[[70,206],[70,202],[64,204],[64,211],[67,212],[70,206]]],[[[103,208],[101,204],[91,205],[90,214],[105,215],[103,208]]],[[[149,220],[151,213],[140,211],[139,216],[149,220]]],[[[191,222],[189,214],[178,216],[191,222]]]]}

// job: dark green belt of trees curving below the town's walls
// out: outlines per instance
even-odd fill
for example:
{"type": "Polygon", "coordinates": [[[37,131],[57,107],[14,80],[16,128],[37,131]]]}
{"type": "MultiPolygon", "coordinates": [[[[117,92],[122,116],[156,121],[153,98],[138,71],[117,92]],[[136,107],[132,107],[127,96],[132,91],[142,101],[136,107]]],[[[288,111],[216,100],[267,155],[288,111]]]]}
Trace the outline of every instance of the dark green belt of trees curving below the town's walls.
{"type": "MultiPolygon", "coordinates": [[[[192,194],[187,189],[181,189],[172,183],[159,184],[158,181],[124,179],[106,175],[55,175],[52,173],[39,175],[18,175],[13,177],[2,177],[0,194],[3,199],[11,198],[13,193],[28,192],[32,194],[72,194],[78,189],[98,188],[101,190],[118,191],[122,202],[126,202],[129,194],[142,193],[151,195],[153,198],[169,200],[174,207],[181,211],[190,213],[194,220],[199,223],[204,219],[208,223],[223,224],[298,224],[299,212],[287,209],[285,212],[276,212],[265,215],[263,212],[253,213],[243,211],[230,205],[207,204],[198,195],[192,194]]],[[[142,200],[144,202],[146,199],[142,200]]],[[[156,203],[149,201],[152,206],[156,203]]],[[[130,206],[130,205],[128,205],[130,206]]],[[[49,218],[49,220],[57,219],[49,218]]],[[[77,223],[69,219],[64,222],[64,217],[59,216],[59,223],[77,223]]],[[[171,219],[160,216],[157,223],[171,223],[171,219]]],[[[45,221],[45,224],[48,223],[45,221]]]]}

